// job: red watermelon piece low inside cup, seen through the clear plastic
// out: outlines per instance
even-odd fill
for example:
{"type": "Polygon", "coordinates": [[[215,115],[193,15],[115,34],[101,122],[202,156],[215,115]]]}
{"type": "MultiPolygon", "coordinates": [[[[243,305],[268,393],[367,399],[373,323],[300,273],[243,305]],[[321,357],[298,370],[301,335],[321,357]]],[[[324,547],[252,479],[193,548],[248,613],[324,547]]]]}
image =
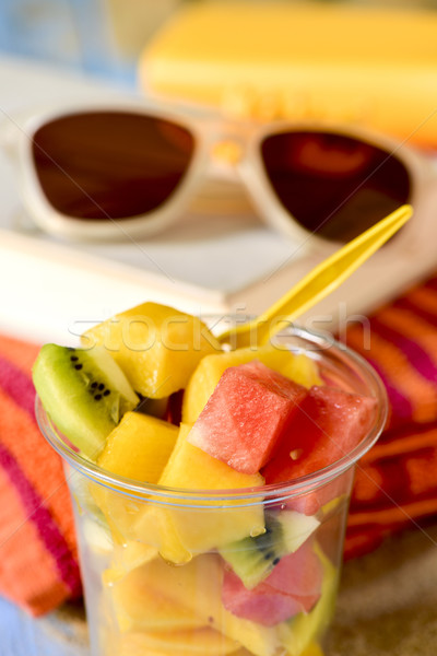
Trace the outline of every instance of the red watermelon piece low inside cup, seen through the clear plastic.
{"type": "Polygon", "coordinates": [[[250,590],[233,571],[225,570],[222,601],[237,617],[273,626],[299,612],[309,612],[320,597],[322,579],[323,566],[314,541],[306,540],[250,590]]]}

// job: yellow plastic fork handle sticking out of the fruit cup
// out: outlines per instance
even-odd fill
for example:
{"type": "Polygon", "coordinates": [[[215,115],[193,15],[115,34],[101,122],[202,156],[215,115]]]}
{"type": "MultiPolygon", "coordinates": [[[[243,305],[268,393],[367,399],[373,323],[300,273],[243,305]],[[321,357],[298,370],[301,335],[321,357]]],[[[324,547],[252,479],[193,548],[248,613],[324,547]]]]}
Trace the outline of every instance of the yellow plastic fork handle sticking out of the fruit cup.
{"type": "Polygon", "coordinates": [[[412,214],[411,206],[400,207],[323,260],[259,317],[222,332],[218,340],[222,343],[231,343],[234,349],[264,344],[340,286],[394,235],[412,214]]]}

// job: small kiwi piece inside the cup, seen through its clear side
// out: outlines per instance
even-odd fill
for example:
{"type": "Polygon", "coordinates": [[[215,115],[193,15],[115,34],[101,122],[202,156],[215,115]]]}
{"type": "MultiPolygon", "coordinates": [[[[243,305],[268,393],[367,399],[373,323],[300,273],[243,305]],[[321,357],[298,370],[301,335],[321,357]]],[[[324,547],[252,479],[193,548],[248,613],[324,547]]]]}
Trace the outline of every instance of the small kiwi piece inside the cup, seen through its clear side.
{"type": "Polygon", "coordinates": [[[263,534],[226,544],[220,553],[245,587],[252,589],[284,555],[296,551],[319,524],[315,516],[295,511],[267,512],[263,534]]]}

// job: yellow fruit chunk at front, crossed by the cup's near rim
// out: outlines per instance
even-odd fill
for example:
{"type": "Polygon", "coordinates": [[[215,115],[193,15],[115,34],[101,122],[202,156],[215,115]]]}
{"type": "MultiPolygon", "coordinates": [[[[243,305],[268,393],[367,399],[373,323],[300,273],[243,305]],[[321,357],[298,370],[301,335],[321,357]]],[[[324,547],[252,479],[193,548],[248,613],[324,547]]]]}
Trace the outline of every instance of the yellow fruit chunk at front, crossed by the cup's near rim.
{"type": "MultiPolygon", "coordinates": [[[[263,485],[261,475],[240,473],[189,444],[187,435],[190,429],[190,425],[181,424],[175,449],[160,478],[161,485],[191,490],[236,490],[263,485]]],[[[190,499],[180,499],[178,506],[151,504],[139,516],[132,537],[157,546],[158,535],[158,549],[163,558],[184,563],[191,554],[264,531],[261,496],[258,504],[245,506],[244,502],[229,500],[224,501],[223,505],[227,507],[220,507],[220,504],[211,501],[190,499]]]]}

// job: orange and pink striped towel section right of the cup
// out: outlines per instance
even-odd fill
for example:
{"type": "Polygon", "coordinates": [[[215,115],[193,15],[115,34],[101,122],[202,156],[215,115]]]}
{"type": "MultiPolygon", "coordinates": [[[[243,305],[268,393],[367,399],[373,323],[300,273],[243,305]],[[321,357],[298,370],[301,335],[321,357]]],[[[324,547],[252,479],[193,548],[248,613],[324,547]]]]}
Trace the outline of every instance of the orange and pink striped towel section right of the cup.
{"type": "Polygon", "coordinates": [[[345,557],[437,516],[437,277],[381,307],[345,335],[380,374],[390,415],[359,461],[345,557]]]}

